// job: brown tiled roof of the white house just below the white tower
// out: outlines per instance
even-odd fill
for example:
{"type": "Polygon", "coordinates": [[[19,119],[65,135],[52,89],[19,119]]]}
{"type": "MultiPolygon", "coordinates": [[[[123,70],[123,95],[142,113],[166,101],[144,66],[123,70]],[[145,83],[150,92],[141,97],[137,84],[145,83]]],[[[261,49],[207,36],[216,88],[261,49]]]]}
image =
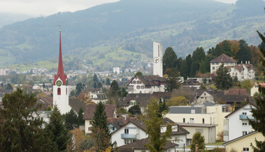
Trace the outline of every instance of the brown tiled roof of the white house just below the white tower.
{"type": "Polygon", "coordinates": [[[136,75],[134,79],[140,79],[145,86],[159,86],[161,82],[166,82],[166,78],[160,77],[159,75],[136,75]]]}

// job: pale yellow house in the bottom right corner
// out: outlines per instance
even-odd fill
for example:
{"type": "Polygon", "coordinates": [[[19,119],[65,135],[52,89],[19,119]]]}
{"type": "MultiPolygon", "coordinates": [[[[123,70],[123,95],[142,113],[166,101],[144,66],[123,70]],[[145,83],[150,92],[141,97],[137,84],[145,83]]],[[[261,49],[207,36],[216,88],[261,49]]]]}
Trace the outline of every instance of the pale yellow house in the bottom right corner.
{"type": "Polygon", "coordinates": [[[234,149],[235,151],[253,151],[250,144],[252,143],[253,146],[257,146],[255,143],[255,139],[258,141],[264,141],[265,138],[260,132],[250,132],[246,135],[242,135],[237,137],[236,139],[232,139],[229,142],[226,142],[222,145],[225,146],[225,151],[231,151],[234,149]]]}

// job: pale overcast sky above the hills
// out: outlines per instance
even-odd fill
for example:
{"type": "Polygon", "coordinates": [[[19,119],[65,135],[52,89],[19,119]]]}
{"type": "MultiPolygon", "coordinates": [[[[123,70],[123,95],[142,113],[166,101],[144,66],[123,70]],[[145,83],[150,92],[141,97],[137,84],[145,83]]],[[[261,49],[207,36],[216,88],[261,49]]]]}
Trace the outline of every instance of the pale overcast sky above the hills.
{"type": "MultiPolygon", "coordinates": [[[[34,17],[52,15],[58,12],[75,12],[101,3],[119,0],[0,0],[0,13],[19,13],[34,17]]],[[[131,0],[133,1],[133,0],[131,0]]],[[[216,0],[235,3],[236,0],[216,0]]]]}

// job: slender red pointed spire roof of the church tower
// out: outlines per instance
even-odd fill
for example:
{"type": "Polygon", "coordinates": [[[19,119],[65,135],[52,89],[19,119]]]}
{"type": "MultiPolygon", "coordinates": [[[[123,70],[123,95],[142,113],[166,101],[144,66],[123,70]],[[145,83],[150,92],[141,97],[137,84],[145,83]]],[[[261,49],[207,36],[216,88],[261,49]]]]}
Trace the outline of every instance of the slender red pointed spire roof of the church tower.
{"type": "Polygon", "coordinates": [[[61,44],[61,30],[60,30],[60,40],[59,40],[59,63],[58,63],[58,71],[57,75],[55,75],[55,79],[53,79],[53,85],[58,78],[60,78],[63,82],[63,85],[66,84],[67,75],[64,75],[64,67],[62,65],[62,44],[61,44]]]}

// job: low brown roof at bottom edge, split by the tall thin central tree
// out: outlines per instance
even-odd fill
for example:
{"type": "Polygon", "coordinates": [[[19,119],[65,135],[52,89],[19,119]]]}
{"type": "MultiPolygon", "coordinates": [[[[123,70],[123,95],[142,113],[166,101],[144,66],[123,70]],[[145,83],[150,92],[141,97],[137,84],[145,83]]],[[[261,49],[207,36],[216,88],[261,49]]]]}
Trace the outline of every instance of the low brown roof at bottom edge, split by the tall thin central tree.
{"type": "MultiPolygon", "coordinates": [[[[124,149],[124,148],[131,148],[131,149],[146,149],[145,144],[150,143],[150,139],[144,138],[137,140],[136,142],[131,142],[130,144],[125,144],[123,146],[119,146],[117,149],[124,149]]],[[[166,142],[166,145],[164,146],[164,149],[170,149],[175,146],[178,146],[178,144],[172,143],[172,142],[166,142]]]]}

